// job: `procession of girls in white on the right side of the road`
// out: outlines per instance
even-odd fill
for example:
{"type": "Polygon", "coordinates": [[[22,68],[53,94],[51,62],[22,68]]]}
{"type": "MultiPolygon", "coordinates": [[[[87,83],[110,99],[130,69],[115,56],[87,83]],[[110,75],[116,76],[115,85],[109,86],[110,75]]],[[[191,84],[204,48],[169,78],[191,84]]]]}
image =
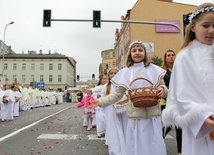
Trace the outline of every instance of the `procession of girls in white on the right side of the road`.
{"type": "Polygon", "coordinates": [[[95,123],[98,136],[105,134],[110,155],[166,155],[172,128],[178,155],[214,154],[214,4],[188,19],[176,58],[167,50],[163,67],[156,66],[144,42],[133,41],[126,67],[111,68],[77,104],[87,130],[95,123]]]}

